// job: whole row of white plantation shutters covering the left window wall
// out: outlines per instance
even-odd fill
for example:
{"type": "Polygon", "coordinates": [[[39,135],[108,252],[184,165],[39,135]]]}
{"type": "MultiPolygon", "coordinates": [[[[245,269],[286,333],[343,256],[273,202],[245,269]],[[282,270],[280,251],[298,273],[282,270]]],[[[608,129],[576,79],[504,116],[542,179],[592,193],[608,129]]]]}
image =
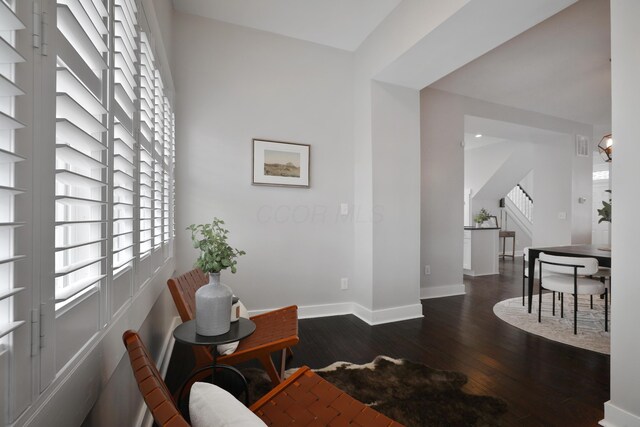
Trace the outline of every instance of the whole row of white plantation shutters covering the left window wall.
{"type": "Polygon", "coordinates": [[[0,425],[48,404],[171,266],[153,36],[141,0],[0,0],[0,425]]]}

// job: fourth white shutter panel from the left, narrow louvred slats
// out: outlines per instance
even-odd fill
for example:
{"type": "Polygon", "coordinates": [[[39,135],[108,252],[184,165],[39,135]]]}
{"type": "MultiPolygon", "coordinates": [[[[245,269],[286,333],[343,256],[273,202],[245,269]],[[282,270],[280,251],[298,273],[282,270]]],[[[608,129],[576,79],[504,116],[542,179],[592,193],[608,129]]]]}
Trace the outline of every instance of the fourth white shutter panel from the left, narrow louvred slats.
{"type": "Polygon", "coordinates": [[[145,258],[153,248],[154,210],[154,104],[155,73],[153,71],[151,44],[145,32],[140,33],[140,134],[139,167],[140,180],[140,237],[139,257],[145,258]]]}

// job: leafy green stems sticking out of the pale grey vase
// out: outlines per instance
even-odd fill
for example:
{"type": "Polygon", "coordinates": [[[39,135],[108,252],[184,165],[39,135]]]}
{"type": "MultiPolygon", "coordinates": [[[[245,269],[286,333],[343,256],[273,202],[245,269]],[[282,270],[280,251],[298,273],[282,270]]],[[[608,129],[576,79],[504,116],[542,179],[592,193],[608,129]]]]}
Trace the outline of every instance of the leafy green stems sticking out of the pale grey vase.
{"type": "Polygon", "coordinates": [[[229,246],[229,230],[224,229],[223,225],[223,220],[214,218],[211,224],[191,224],[187,227],[187,230],[191,230],[193,247],[200,249],[194,266],[205,273],[219,273],[227,268],[235,273],[236,258],[246,253],[229,246]]]}

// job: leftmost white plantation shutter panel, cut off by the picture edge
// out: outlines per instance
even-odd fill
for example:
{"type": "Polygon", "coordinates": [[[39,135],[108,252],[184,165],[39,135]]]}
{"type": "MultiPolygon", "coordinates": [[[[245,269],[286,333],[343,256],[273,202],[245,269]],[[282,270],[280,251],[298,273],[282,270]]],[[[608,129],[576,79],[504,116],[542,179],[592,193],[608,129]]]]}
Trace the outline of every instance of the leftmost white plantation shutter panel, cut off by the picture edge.
{"type": "MultiPolygon", "coordinates": [[[[22,15],[24,16],[24,15],[22,15]]],[[[29,118],[26,100],[28,30],[16,3],[0,1],[0,424],[13,422],[31,400],[29,292],[31,283],[29,118]],[[22,114],[20,114],[22,113],[22,114]],[[21,132],[20,136],[16,134],[21,132]],[[8,397],[8,398],[7,398],[8,397]]]]}

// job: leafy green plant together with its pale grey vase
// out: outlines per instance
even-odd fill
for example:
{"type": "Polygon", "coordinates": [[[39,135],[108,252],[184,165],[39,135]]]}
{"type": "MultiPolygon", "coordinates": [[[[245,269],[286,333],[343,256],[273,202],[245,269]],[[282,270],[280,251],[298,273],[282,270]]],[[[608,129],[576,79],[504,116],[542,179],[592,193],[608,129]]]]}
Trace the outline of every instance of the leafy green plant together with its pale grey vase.
{"type": "Polygon", "coordinates": [[[209,283],[196,291],[196,333],[221,335],[231,326],[231,303],[233,293],[220,283],[220,272],[229,269],[236,272],[236,258],[245,252],[232,248],[227,239],[229,230],[224,221],[214,218],[211,224],[191,224],[193,247],[200,250],[195,266],[209,275],[209,283]]]}

